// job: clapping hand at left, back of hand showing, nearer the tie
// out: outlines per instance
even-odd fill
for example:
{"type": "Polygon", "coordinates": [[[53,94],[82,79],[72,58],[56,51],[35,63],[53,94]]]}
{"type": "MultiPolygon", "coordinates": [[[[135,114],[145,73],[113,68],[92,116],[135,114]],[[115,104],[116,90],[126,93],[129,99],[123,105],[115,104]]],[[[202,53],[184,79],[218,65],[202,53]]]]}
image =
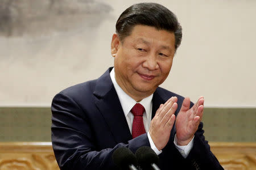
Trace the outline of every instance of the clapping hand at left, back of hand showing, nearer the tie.
{"type": "Polygon", "coordinates": [[[171,97],[166,103],[161,104],[150,123],[150,137],[158,150],[162,150],[169,141],[171,129],[175,121],[176,102],[177,97],[171,97]]]}

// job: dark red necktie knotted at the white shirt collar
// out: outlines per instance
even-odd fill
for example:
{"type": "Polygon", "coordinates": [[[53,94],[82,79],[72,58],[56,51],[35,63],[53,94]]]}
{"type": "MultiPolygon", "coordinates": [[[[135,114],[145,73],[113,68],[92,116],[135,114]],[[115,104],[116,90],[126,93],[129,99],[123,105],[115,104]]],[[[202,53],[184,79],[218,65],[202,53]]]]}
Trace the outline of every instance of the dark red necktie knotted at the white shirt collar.
{"type": "Polygon", "coordinates": [[[143,105],[137,103],[134,105],[134,107],[131,109],[131,113],[133,113],[133,128],[131,129],[131,135],[133,138],[138,137],[141,134],[146,133],[144,124],[143,124],[143,113],[145,109],[143,105]]]}

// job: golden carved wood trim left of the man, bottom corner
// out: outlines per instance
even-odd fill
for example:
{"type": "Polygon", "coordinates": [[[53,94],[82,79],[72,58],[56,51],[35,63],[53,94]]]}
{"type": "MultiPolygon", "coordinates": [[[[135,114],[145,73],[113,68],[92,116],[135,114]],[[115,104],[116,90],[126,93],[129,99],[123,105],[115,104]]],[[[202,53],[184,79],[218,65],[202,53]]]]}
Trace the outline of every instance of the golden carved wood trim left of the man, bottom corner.
{"type": "Polygon", "coordinates": [[[51,142],[0,143],[0,170],[59,170],[51,142]]]}

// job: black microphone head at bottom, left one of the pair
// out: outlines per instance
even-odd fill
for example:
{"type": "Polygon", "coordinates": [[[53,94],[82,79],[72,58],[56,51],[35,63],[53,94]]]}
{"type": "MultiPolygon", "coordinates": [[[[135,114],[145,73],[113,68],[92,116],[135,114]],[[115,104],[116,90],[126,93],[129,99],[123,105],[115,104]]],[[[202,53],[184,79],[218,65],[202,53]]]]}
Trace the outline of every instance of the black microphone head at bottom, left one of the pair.
{"type": "Polygon", "coordinates": [[[117,150],[113,152],[112,159],[113,162],[121,169],[138,170],[136,168],[138,164],[137,159],[129,148],[117,148],[117,150]]]}

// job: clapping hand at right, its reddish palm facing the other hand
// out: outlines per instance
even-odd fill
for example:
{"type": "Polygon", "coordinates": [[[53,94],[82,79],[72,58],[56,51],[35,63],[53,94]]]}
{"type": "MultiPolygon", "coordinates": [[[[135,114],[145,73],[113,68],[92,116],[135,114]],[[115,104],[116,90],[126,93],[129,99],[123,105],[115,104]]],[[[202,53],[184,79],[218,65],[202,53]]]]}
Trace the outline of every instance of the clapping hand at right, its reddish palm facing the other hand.
{"type": "Polygon", "coordinates": [[[191,109],[189,107],[190,99],[186,97],[183,100],[179,114],[177,114],[175,123],[177,145],[180,146],[188,145],[198,129],[203,117],[204,97],[201,96],[191,109]]]}

